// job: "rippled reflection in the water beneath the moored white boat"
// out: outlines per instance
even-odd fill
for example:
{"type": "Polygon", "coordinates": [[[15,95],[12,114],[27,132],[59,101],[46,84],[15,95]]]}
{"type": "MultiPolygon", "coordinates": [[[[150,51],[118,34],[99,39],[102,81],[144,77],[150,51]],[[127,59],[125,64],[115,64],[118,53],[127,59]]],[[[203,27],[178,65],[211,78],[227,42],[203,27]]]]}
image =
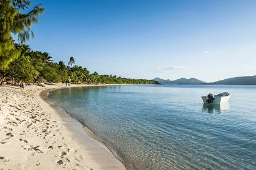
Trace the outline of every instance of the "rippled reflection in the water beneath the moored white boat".
{"type": "Polygon", "coordinates": [[[222,104],[203,104],[202,111],[209,114],[221,114],[225,110],[229,110],[229,102],[222,104]]]}

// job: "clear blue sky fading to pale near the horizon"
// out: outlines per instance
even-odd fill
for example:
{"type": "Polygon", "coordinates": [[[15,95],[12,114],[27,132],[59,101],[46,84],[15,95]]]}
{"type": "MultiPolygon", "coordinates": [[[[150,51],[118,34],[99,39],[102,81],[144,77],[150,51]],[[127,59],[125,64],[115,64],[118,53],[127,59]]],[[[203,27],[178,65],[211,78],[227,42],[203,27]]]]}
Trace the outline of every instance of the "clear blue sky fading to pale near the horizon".
{"type": "Polygon", "coordinates": [[[254,0],[32,1],[32,50],[90,72],[214,82],[256,75],[254,0]]]}

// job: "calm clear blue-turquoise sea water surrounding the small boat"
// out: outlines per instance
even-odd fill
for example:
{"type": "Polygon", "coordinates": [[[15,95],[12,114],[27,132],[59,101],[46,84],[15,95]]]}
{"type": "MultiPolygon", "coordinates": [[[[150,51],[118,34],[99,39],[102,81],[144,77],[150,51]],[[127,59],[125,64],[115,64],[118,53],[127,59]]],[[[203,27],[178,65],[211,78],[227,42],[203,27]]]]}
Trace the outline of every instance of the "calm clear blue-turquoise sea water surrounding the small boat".
{"type": "Polygon", "coordinates": [[[127,169],[256,169],[256,86],[75,87],[49,98],[127,169]],[[228,103],[203,104],[224,91],[228,103]]]}

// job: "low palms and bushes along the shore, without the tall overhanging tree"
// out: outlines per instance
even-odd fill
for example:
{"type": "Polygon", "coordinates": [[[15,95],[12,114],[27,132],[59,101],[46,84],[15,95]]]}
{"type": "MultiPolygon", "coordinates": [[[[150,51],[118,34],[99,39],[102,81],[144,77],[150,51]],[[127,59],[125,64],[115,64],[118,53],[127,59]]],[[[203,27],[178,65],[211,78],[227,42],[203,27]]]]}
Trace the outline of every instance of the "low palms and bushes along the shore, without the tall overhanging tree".
{"type": "MultiPolygon", "coordinates": [[[[66,66],[64,62],[54,63],[47,52],[33,51],[29,46],[18,46],[19,58],[15,59],[10,68],[3,74],[17,81],[37,82],[38,78],[43,78],[47,82],[60,83],[68,80],[72,83],[105,83],[105,84],[155,84],[152,80],[127,79],[116,75],[99,75],[94,71],[93,74],[75,65],[66,66]]],[[[74,59],[74,58],[73,58],[74,59]]],[[[0,71],[1,75],[1,71],[0,71]]]]}

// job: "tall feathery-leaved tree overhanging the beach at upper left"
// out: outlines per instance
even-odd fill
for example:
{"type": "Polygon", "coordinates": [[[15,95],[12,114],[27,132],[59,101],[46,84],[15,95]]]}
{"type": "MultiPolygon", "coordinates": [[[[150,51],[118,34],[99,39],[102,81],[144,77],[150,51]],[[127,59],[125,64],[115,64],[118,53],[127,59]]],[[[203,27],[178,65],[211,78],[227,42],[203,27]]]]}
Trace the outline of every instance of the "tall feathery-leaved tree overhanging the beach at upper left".
{"type": "Polygon", "coordinates": [[[0,0],[0,70],[5,70],[8,65],[20,56],[20,50],[15,47],[11,33],[18,34],[21,43],[34,36],[30,30],[32,23],[38,22],[38,15],[44,9],[41,4],[33,6],[26,0],[0,0]],[[27,13],[21,13],[25,10],[27,13]]]}

